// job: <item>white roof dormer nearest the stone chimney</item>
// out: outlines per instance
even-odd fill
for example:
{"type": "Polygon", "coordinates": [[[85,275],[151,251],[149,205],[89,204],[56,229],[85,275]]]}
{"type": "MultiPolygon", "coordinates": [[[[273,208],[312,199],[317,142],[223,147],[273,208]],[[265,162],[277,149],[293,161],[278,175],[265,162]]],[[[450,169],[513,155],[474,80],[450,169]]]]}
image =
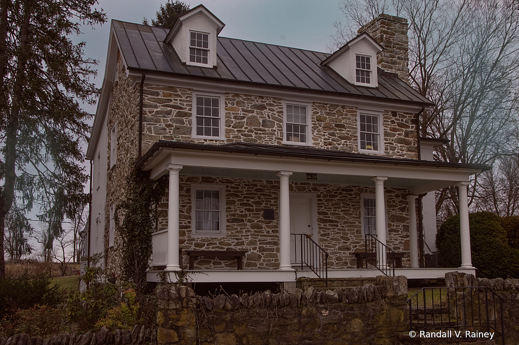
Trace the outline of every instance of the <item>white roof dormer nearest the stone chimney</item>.
{"type": "Polygon", "coordinates": [[[362,33],[327,57],[321,64],[331,67],[348,82],[376,88],[377,54],[382,48],[370,35],[362,33]]]}

